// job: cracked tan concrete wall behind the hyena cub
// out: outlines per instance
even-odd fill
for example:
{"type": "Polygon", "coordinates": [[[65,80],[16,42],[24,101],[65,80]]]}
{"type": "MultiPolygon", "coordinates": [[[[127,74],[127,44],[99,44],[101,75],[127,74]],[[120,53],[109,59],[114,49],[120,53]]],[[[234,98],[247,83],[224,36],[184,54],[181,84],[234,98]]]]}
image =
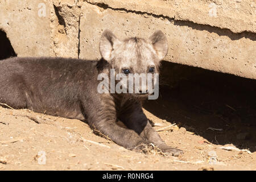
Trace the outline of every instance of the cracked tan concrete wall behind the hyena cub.
{"type": "Polygon", "coordinates": [[[256,78],[254,0],[2,0],[0,10],[18,56],[98,59],[105,28],[120,39],[160,29],[166,61],[256,78]]]}

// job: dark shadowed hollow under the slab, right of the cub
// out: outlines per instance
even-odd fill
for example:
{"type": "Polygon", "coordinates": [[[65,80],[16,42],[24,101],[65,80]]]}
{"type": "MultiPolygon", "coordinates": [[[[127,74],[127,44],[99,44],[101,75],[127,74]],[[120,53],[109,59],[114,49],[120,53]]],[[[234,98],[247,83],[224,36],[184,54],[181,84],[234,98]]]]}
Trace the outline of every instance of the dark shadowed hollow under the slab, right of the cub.
{"type": "Polygon", "coordinates": [[[160,71],[160,96],[145,109],[214,144],[256,151],[256,80],[167,61],[160,71]]]}

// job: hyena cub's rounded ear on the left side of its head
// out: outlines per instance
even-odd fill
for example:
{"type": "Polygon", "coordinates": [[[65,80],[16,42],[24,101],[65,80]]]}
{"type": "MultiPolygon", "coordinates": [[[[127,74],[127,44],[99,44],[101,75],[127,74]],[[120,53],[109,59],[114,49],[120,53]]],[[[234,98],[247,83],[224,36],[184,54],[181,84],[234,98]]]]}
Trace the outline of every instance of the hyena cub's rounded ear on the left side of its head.
{"type": "Polygon", "coordinates": [[[110,61],[112,59],[112,51],[116,49],[120,43],[121,42],[115,37],[115,35],[111,31],[105,30],[102,33],[100,40],[101,56],[106,61],[110,61]]]}

